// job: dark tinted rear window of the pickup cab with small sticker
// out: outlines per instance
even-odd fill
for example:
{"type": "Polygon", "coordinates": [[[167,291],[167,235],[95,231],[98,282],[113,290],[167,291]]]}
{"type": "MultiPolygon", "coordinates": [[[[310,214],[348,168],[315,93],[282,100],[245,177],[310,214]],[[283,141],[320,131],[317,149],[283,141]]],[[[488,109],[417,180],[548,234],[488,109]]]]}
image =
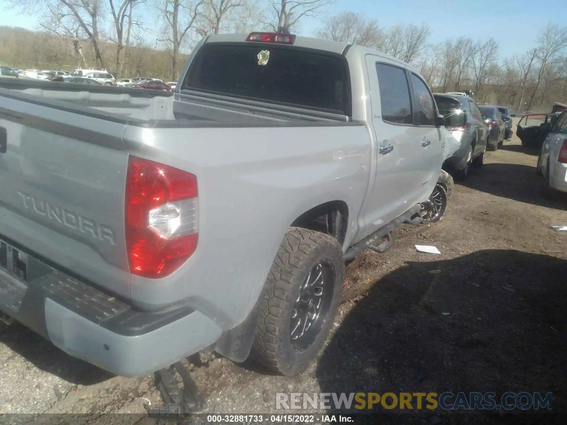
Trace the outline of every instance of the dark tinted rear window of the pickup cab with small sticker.
{"type": "Polygon", "coordinates": [[[187,74],[182,90],[350,116],[349,71],[338,54],[260,43],[210,44],[198,51],[187,74]],[[263,50],[269,58],[260,65],[263,50]]]}

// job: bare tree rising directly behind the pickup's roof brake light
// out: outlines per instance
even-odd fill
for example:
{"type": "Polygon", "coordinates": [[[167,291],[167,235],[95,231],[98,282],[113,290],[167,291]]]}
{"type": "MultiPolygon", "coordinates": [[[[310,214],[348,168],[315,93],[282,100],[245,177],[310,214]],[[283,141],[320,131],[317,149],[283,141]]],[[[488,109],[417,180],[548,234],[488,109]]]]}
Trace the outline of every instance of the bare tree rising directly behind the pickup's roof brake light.
{"type": "Polygon", "coordinates": [[[325,6],[333,0],[268,0],[272,11],[272,20],[266,26],[272,31],[278,28],[297,30],[299,20],[307,16],[318,16],[325,6]]]}

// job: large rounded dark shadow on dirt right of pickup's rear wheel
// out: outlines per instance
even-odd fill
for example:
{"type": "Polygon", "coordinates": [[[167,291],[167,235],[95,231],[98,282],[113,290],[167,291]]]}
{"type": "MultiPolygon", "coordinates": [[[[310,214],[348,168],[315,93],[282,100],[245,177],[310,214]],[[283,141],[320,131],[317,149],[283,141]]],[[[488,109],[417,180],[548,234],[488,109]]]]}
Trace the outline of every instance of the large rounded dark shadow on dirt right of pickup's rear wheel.
{"type": "MultiPolygon", "coordinates": [[[[553,392],[553,413],[565,413],[565,275],[566,260],[515,250],[408,262],[375,282],[342,321],[316,369],[320,391],[553,392]]],[[[439,408],[389,412],[368,423],[535,419],[439,408]]],[[[548,414],[543,419],[555,422],[548,414]]]]}

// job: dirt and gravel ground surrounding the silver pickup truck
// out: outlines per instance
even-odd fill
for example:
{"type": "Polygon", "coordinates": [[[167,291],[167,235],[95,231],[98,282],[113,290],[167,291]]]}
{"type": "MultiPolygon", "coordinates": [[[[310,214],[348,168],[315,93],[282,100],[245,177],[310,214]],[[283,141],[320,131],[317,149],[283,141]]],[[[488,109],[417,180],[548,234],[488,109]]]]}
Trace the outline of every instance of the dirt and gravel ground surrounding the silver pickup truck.
{"type": "MultiPolygon", "coordinates": [[[[272,413],[276,392],[527,390],[553,392],[554,411],[566,413],[567,232],[549,226],[567,224],[567,201],[539,196],[536,160],[514,137],[456,185],[440,223],[401,228],[390,252],[352,262],[333,333],[300,375],[201,355],[204,366],[191,368],[208,411],[272,413]],[[415,244],[441,255],[417,253],[415,244]]],[[[0,325],[0,382],[0,413],[26,414],[19,422],[40,413],[143,414],[144,403],[162,402],[152,376],[112,376],[18,324],[0,325]]],[[[435,415],[380,418],[521,422],[435,415]]]]}

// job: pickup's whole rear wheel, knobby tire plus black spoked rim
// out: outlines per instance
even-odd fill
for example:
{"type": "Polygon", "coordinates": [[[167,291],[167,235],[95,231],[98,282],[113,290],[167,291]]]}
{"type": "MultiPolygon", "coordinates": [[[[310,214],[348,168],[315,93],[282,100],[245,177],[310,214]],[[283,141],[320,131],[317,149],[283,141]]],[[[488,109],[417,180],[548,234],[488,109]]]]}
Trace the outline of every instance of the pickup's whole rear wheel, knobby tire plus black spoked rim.
{"type": "Polygon", "coordinates": [[[331,331],[343,269],[335,238],[291,227],[264,284],[251,358],[283,375],[305,369],[331,331]]]}

